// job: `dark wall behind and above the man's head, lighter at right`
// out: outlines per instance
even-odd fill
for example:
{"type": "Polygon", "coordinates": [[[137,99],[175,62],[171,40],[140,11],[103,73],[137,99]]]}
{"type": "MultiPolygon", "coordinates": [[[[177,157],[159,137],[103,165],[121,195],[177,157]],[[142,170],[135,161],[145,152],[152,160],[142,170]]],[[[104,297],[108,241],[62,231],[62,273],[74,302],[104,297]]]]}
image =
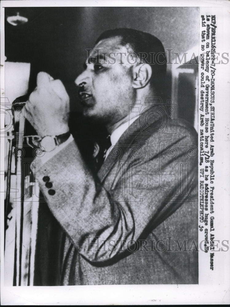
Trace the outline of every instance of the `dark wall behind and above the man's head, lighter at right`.
{"type": "Polygon", "coordinates": [[[197,7],[6,8],[5,20],[17,12],[27,17],[28,22],[18,26],[5,22],[7,61],[31,63],[30,91],[36,85],[39,71],[61,79],[71,96],[72,109],[76,110],[79,105],[73,81],[83,69],[85,49],[92,48],[104,30],[140,29],[154,34],[165,49],[178,54],[198,44],[197,7]]]}

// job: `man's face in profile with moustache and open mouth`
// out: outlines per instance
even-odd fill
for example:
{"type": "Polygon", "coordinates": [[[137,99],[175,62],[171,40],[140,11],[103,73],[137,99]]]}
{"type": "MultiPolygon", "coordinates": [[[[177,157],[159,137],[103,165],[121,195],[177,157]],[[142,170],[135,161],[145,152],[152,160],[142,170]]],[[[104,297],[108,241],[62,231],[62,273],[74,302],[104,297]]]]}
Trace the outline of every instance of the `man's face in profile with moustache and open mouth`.
{"type": "Polygon", "coordinates": [[[75,80],[84,116],[104,124],[115,124],[127,116],[134,98],[131,64],[119,54],[127,54],[120,41],[120,37],[99,41],[90,52],[85,71],[75,80]]]}

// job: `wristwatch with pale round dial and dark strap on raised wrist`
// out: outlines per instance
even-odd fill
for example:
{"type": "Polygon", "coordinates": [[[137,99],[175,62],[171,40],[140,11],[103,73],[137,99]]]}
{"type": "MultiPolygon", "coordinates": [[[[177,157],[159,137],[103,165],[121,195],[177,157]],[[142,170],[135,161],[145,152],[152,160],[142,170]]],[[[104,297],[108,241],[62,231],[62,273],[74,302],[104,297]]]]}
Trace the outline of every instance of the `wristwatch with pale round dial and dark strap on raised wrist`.
{"type": "Polygon", "coordinates": [[[66,132],[60,135],[46,135],[39,141],[39,146],[42,151],[50,152],[53,151],[56,146],[64,143],[70,137],[70,132],[66,132]]]}

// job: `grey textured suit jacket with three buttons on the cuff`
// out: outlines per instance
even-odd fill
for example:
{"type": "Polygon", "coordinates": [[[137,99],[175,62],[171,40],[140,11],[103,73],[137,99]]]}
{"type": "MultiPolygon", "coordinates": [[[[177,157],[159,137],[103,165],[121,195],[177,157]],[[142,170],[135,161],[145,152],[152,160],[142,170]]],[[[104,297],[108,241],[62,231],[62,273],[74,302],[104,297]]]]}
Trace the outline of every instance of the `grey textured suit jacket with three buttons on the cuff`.
{"type": "Polygon", "coordinates": [[[143,113],[95,175],[73,141],[36,177],[62,236],[59,285],[198,283],[197,133],[143,113]]]}

